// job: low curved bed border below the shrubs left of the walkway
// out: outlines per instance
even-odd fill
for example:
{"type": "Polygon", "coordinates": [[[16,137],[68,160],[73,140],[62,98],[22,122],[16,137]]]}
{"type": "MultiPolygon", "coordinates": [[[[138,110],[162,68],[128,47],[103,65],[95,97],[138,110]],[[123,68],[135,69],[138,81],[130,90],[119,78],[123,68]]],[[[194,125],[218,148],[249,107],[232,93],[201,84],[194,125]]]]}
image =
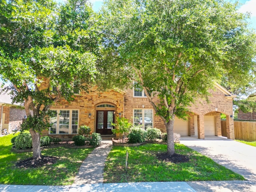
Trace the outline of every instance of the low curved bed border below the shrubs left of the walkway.
{"type": "MultiPolygon", "coordinates": [[[[66,143],[58,143],[58,144],[51,144],[48,146],[42,146],[40,147],[41,150],[44,149],[48,149],[48,148],[55,148],[55,147],[66,147],[66,148],[73,148],[73,149],[78,149],[78,148],[92,148],[92,145],[82,145],[82,146],[76,146],[76,145],[72,145],[72,144],[68,144],[68,142],[66,143]]],[[[32,148],[29,149],[16,149],[15,146],[12,146],[11,149],[12,152],[16,152],[16,153],[23,153],[23,152],[32,152],[32,148]]]]}

